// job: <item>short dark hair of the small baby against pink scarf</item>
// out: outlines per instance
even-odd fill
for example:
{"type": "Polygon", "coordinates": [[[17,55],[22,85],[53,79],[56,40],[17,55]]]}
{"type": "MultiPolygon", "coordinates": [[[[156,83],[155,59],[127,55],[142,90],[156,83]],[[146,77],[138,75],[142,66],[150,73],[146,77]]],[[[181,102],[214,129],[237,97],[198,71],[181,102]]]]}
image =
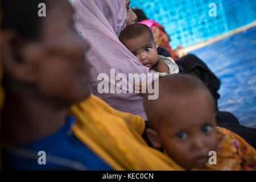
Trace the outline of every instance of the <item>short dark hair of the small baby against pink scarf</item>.
{"type": "Polygon", "coordinates": [[[125,40],[135,39],[145,33],[150,34],[151,40],[155,42],[150,27],[146,26],[146,24],[141,23],[134,23],[123,29],[119,36],[119,40],[123,43],[125,40]]]}

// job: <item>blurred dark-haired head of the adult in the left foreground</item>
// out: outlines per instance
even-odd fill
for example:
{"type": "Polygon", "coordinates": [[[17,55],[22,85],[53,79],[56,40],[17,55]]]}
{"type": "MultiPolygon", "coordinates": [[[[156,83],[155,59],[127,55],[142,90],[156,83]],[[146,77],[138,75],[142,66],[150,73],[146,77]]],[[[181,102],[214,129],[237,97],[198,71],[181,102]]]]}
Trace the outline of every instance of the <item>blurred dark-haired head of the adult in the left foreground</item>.
{"type": "Polygon", "coordinates": [[[67,0],[2,0],[2,64],[5,87],[73,104],[88,97],[89,44],[73,27],[73,9],[67,0]],[[40,17],[39,3],[46,5],[40,17]]]}

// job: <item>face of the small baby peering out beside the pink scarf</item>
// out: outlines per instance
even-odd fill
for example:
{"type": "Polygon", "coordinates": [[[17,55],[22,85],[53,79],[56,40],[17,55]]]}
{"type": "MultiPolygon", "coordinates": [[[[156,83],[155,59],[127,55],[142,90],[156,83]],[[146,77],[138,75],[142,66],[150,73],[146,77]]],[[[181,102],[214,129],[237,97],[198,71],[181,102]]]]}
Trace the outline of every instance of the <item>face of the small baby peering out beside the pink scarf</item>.
{"type": "Polygon", "coordinates": [[[136,39],[125,40],[123,44],[148,68],[158,63],[158,51],[155,43],[148,33],[138,36],[136,39]]]}

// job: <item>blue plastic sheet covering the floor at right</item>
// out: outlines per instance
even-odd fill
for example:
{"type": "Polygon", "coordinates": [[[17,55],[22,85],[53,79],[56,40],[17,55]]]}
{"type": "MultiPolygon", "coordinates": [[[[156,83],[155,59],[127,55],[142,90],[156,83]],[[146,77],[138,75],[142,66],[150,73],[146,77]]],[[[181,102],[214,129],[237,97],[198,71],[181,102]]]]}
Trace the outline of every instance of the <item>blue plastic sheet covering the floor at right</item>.
{"type": "Polygon", "coordinates": [[[256,128],[256,27],[190,53],[220,78],[219,109],[236,115],[241,125],[256,128]]]}

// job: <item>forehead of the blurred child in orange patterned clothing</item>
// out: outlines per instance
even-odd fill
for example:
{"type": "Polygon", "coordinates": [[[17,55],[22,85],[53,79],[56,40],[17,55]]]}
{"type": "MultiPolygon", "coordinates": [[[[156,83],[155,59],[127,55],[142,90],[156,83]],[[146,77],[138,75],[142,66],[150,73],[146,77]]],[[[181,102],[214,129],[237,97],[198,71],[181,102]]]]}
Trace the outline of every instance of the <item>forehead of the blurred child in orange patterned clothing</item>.
{"type": "Polygon", "coordinates": [[[210,102],[200,97],[172,97],[166,98],[167,104],[158,110],[162,114],[164,125],[176,128],[189,129],[193,126],[202,126],[205,123],[214,123],[214,109],[210,102]]]}

